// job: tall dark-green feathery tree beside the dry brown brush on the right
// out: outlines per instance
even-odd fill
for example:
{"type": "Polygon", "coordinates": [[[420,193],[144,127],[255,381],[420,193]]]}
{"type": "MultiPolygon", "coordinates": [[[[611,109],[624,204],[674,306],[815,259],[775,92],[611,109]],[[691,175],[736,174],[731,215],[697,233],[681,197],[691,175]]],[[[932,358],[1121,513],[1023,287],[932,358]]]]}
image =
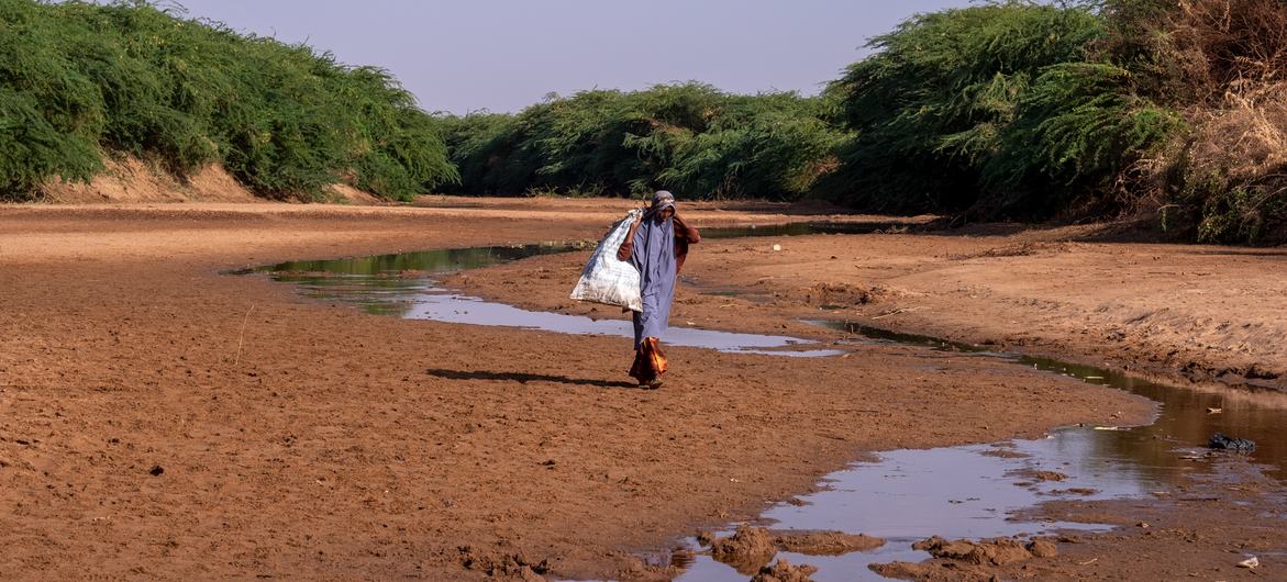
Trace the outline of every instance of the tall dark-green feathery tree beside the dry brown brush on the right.
{"type": "Polygon", "coordinates": [[[824,190],[894,211],[1042,216],[1093,197],[1176,126],[1130,75],[1088,62],[1085,6],[994,3],[915,17],[828,93],[855,132],[824,190]]]}

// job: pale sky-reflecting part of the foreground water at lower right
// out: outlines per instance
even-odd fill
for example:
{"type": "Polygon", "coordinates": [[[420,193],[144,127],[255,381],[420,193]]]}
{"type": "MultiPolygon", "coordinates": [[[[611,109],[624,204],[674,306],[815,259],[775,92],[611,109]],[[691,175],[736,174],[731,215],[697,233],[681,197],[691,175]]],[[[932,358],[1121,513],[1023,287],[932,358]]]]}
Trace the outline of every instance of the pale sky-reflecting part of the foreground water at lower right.
{"type": "MultiPolygon", "coordinates": [[[[1015,441],[999,447],[976,445],[883,454],[826,478],[829,488],[799,497],[807,505],[779,504],[762,515],[775,529],[837,529],[882,537],[885,545],[840,556],[779,554],[792,564],[819,568],[822,581],[883,579],[870,564],[920,561],[929,555],[911,545],[933,534],[949,538],[1033,536],[1054,531],[1103,531],[1080,523],[1013,520],[1010,514],[1051,498],[1067,498],[1059,489],[1095,488],[1077,498],[1102,500],[1145,495],[1148,481],[1121,475],[1122,466],[1091,461],[1086,442],[1055,433],[1048,439],[1015,441]],[[1010,446],[1013,445],[1013,446],[1010,446]],[[1006,455],[995,456],[997,451],[1006,455]],[[1031,482],[1026,470],[1068,474],[1063,482],[1031,482]]],[[[727,532],[726,532],[727,533],[727,532]]],[[[695,550],[695,541],[686,547],[695,550]]],[[[680,581],[744,581],[731,567],[696,554],[680,581]]]]}

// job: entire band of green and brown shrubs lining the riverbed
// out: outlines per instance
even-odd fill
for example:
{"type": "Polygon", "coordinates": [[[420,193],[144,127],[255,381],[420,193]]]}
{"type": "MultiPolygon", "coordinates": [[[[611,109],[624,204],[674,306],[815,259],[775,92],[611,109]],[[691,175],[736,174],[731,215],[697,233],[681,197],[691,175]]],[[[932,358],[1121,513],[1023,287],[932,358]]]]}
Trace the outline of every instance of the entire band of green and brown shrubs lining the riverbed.
{"type": "Polygon", "coordinates": [[[1003,0],[875,37],[821,96],[699,82],[429,116],[385,71],[143,0],[0,0],[0,197],[103,155],[223,163],[261,195],[826,197],[1107,217],[1205,242],[1287,229],[1287,0],[1003,0]]]}

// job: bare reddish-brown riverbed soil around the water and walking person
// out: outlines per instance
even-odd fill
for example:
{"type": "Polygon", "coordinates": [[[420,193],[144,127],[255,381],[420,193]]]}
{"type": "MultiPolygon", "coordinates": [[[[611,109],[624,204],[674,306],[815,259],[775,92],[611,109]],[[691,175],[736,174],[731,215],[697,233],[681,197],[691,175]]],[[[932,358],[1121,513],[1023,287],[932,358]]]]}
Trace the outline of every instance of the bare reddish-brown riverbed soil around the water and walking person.
{"type": "MultiPolygon", "coordinates": [[[[220,274],[301,257],[592,239],[629,206],[421,204],[436,208],[0,208],[5,577],[645,578],[658,572],[632,551],[753,518],[865,451],[1138,423],[1152,410],[1117,391],[903,347],[820,360],[672,347],[667,387],[642,392],[624,382],[620,339],[375,317],[220,274]]],[[[689,212],[712,225],[795,211],[689,212]]],[[[705,242],[685,267],[695,284],[681,289],[673,321],[835,338],[797,319],[817,313],[806,303],[822,301],[810,298],[817,285],[840,284],[855,301],[844,317],[1001,340],[1014,328],[1041,346],[1117,358],[1194,334],[1190,320],[1144,317],[1147,337],[1126,321],[1124,342],[1084,337],[1153,301],[1176,310],[1169,317],[1232,321],[1185,358],[1275,369],[1269,356],[1283,348],[1251,339],[1282,326],[1272,302],[1256,303],[1281,297],[1279,254],[1072,243],[951,258],[1023,236],[810,236],[779,240],[781,252],[767,239],[705,242]],[[1176,275],[1199,258],[1208,275],[1176,275]],[[1098,285],[1051,283],[1068,265],[1100,274],[1086,276],[1098,285]],[[1207,299],[1161,301],[1179,283],[1207,299]],[[714,287],[754,294],[703,293],[714,287]],[[1228,351],[1238,362],[1206,347],[1232,338],[1251,338],[1228,351]]],[[[454,283],[619,316],[565,299],[583,260],[523,261],[454,283]]],[[[1130,543],[1104,551],[1126,556],[1130,543]]]]}

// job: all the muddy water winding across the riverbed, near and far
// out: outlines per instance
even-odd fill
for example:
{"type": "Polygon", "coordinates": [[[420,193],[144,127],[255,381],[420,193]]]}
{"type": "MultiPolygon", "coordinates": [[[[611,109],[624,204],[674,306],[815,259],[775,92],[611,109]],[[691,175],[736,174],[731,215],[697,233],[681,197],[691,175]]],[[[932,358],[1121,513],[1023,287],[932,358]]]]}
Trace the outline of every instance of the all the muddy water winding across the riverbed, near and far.
{"type": "MultiPolygon", "coordinates": [[[[759,229],[754,229],[759,230],[759,229]]],[[[740,231],[734,231],[743,234],[740,231]]],[[[764,230],[754,234],[786,235],[764,230]]],[[[811,234],[802,230],[799,234],[811,234]]],[[[719,231],[707,235],[723,236],[719,231]]],[[[730,234],[734,235],[734,234],[730,234]]],[[[435,274],[495,265],[503,261],[586,248],[550,243],[403,253],[336,261],[302,261],[260,267],[274,279],[296,284],[309,297],[347,302],[369,312],[477,325],[514,325],[560,333],[631,335],[628,321],[591,320],[560,313],[519,310],[453,294],[435,285],[435,274]]],[[[876,461],[856,463],[828,475],[825,491],[780,504],[762,515],[777,529],[838,529],[884,537],[889,543],[844,556],[782,554],[793,563],[817,565],[815,579],[879,579],[866,565],[894,560],[918,561],[927,554],[911,550],[916,540],[1040,534],[1057,529],[1102,529],[1094,524],[1037,523],[1017,519],[1023,510],[1059,498],[1103,500],[1142,497],[1181,484],[1185,475],[1218,470],[1225,454],[1202,448],[1215,432],[1252,438],[1246,456],[1273,475],[1284,475],[1287,446],[1278,438],[1287,420],[1287,394],[1246,389],[1197,391],[1163,385],[1112,370],[1057,360],[990,352],[986,348],[934,338],[894,334],[846,322],[820,322],[851,334],[849,349],[870,343],[898,343],[952,351],[963,357],[1000,357],[1015,365],[1064,374],[1145,396],[1161,403],[1147,427],[1069,427],[1036,441],[902,450],[876,461]],[[1039,472],[1063,475],[1042,481],[1039,472]]],[[[790,356],[830,356],[824,348],[786,337],[672,328],[669,343],[732,352],[790,356]]],[[[730,524],[731,527],[732,524],[730,524]]],[[[680,579],[745,579],[730,567],[701,554],[686,540],[676,551],[651,555],[685,570],[680,579]]]]}

